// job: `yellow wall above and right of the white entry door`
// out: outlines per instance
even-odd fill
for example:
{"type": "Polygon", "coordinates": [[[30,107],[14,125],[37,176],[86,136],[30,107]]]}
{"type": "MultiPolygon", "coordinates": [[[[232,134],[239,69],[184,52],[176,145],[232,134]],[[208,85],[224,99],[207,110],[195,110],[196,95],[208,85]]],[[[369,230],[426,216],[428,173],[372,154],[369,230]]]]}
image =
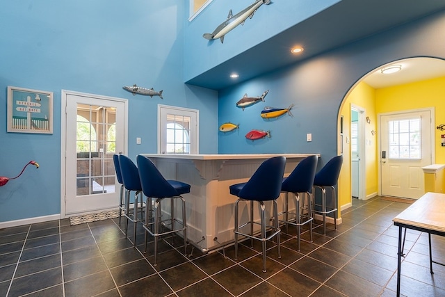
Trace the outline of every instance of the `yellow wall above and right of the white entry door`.
{"type": "MultiPolygon", "coordinates": [[[[432,106],[435,107],[435,127],[445,124],[445,77],[375,90],[376,113],[432,106]]],[[[445,131],[435,129],[437,164],[445,164],[445,147],[441,146],[442,134],[445,131]]]]}

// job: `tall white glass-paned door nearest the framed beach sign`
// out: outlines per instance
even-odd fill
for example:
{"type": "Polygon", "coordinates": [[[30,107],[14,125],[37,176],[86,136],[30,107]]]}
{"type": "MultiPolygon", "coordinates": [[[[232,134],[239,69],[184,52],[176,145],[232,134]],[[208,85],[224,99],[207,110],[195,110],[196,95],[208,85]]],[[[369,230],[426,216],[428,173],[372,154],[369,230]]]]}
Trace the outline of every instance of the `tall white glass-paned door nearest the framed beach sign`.
{"type": "Polygon", "coordinates": [[[127,102],[64,93],[65,214],[118,207],[113,154],[124,152],[127,102]]]}

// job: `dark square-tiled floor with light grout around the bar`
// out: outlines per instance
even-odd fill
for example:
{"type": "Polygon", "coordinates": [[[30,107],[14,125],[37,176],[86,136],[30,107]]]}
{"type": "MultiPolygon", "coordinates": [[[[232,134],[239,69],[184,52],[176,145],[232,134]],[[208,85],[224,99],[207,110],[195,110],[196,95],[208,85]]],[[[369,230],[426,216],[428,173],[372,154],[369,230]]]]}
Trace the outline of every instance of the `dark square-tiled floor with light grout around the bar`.
{"type": "MultiPolygon", "coordinates": [[[[259,245],[201,255],[179,236],[143,253],[143,232],[133,248],[118,220],[70,226],[69,220],[0,230],[0,296],[396,296],[398,230],[392,218],[409,204],[379,197],[353,200],[338,230],[329,225],[296,236],[282,234],[282,258],[268,243],[266,273],[259,245]]],[[[320,222],[318,222],[320,223],[320,222]]],[[[122,224],[123,225],[123,224],[122,224]]],[[[139,228],[142,229],[142,228],[139,228]]],[[[131,226],[130,229],[131,230],[131,226]]],[[[433,236],[433,257],[445,262],[445,239],[433,236]]],[[[428,236],[408,230],[402,264],[404,296],[445,296],[445,267],[429,272],[428,236]]]]}

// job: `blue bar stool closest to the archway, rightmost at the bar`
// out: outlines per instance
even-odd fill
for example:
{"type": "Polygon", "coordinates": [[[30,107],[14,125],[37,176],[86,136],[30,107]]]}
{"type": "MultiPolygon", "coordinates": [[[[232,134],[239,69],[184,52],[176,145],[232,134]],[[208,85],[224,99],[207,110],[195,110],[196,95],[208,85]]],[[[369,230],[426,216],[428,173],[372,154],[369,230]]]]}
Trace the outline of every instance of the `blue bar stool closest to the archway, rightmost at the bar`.
{"type": "Polygon", "coordinates": [[[337,193],[334,186],[339,180],[342,163],[343,156],[334,156],[315,175],[313,193],[315,195],[315,188],[321,188],[321,204],[314,203],[314,213],[323,216],[323,234],[326,234],[326,214],[332,212],[334,213],[334,227],[337,230],[337,193]],[[326,200],[326,188],[331,190],[330,201],[326,200]],[[327,202],[330,202],[332,206],[328,207],[327,202]]]}

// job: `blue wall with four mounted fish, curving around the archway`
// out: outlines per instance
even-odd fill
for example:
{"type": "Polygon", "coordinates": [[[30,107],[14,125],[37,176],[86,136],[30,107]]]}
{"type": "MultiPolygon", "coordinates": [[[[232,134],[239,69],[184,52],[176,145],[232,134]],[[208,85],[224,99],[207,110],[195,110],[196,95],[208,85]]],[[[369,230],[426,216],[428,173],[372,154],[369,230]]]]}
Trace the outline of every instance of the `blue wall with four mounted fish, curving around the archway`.
{"type": "Polygon", "coordinates": [[[239,124],[236,131],[220,132],[219,153],[320,153],[323,165],[337,155],[339,107],[350,88],[375,68],[401,58],[430,56],[445,58],[445,12],[359,40],[283,70],[264,74],[220,91],[218,124],[239,124]],[[266,102],[236,107],[245,93],[253,97],[269,89],[266,102]],[[264,120],[264,106],[287,108],[283,115],[264,120]],[[270,130],[271,138],[249,141],[250,129],[270,130]],[[306,134],[312,133],[312,142],[306,134]]]}

